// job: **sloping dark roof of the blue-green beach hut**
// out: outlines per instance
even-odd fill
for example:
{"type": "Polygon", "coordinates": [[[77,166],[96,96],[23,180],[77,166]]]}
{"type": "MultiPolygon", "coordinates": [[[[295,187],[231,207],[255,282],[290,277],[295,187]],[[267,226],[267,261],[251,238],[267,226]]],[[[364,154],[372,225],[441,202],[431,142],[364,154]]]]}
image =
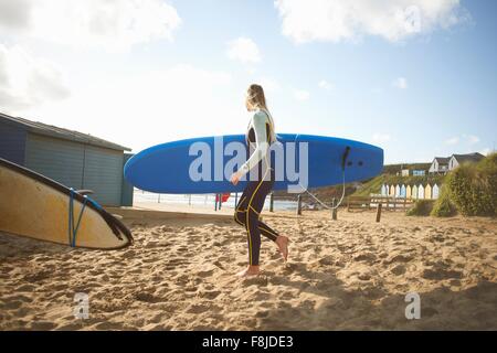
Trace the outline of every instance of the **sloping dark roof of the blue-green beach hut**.
{"type": "Polygon", "coordinates": [[[60,128],[53,125],[46,125],[39,121],[32,121],[20,117],[11,117],[7,114],[0,113],[0,122],[4,122],[18,128],[28,130],[33,133],[44,135],[49,137],[54,137],[63,140],[76,141],[82,143],[87,143],[97,147],[104,147],[118,151],[130,151],[128,147],[124,147],[117,143],[113,143],[95,136],[83,133],[74,130],[68,130],[60,128]]]}

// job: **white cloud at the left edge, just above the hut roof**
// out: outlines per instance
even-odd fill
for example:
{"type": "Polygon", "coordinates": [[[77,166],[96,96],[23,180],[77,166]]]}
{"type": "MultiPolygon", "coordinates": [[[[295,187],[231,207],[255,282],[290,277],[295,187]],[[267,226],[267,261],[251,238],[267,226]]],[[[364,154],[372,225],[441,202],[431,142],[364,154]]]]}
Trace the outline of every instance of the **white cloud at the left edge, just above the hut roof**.
{"type": "Polygon", "coordinates": [[[9,111],[31,108],[68,95],[53,63],[33,57],[20,46],[0,44],[0,107],[9,111]]]}

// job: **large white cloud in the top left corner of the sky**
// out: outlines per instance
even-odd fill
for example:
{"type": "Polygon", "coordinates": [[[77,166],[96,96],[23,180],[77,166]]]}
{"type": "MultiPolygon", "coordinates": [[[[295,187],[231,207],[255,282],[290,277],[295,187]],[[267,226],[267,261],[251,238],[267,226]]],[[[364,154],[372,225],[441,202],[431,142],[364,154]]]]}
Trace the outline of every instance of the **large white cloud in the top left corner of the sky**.
{"type": "Polygon", "coordinates": [[[162,0],[22,0],[11,1],[7,10],[10,23],[2,26],[7,31],[23,29],[38,39],[77,49],[126,51],[138,43],[172,40],[181,23],[176,9],[162,0]]]}

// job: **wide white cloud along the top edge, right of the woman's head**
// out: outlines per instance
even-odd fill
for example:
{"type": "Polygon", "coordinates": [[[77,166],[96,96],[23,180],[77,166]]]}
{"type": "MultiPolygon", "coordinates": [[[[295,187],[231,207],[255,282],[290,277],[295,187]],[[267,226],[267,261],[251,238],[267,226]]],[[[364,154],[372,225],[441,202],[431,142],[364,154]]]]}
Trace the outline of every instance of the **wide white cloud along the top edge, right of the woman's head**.
{"type": "Polygon", "coordinates": [[[459,0],[276,0],[282,32],[297,43],[378,35],[396,42],[468,20],[459,0]]]}

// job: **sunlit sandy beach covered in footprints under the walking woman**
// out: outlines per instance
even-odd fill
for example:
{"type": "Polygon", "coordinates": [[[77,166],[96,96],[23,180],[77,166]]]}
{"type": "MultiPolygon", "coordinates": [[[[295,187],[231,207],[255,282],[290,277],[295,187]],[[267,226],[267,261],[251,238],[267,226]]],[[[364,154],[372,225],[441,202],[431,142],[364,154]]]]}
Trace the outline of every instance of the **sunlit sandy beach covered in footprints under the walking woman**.
{"type": "Polygon", "coordinates": [[[496,220],[338,216],[265,213],[289,260],[263,239],[263,274],[244,280],[245,232],[226,216],[129,212],[135,244],[113,252],[2,234],[0,330],[497,330],[496,220]]]}

